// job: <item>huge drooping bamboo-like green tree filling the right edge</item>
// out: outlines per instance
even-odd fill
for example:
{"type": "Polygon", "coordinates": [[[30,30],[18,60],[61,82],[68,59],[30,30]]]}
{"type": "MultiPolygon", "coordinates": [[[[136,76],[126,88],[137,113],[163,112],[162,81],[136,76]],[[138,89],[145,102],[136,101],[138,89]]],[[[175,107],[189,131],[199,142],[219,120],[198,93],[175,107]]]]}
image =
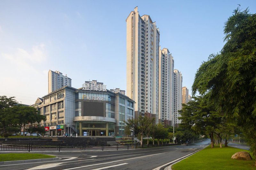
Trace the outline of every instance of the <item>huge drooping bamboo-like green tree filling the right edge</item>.
{"type": "Polygon", "coordinates": [[[219,113],[236,119],[255,155],[256,14],[237,8],[225,23],[224,33],[226,44],[197,70],[192,92],[215,103],[219,113]]]}

